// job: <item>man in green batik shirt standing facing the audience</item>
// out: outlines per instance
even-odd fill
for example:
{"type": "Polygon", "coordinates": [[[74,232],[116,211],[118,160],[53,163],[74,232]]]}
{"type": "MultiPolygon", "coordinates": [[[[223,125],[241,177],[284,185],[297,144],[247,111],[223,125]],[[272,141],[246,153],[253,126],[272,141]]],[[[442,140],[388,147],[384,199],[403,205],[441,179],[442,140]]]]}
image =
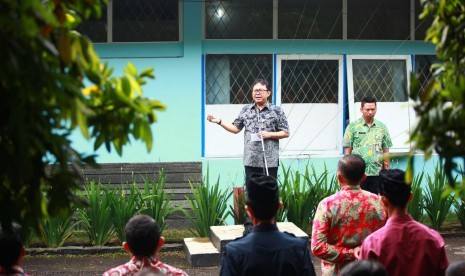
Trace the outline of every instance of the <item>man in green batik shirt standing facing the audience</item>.
{"type": "Polygon", "coordinates": [[[342,146],[344,155],[360,155],[366,163],[367,178],[360,184],[363,190],[378,194],[379,172],[390,168],[389,148],[391,137],[385,124],[375,119],[376,100],[362,99],[362,118],[350,123],[345,131],[342,146]]]}

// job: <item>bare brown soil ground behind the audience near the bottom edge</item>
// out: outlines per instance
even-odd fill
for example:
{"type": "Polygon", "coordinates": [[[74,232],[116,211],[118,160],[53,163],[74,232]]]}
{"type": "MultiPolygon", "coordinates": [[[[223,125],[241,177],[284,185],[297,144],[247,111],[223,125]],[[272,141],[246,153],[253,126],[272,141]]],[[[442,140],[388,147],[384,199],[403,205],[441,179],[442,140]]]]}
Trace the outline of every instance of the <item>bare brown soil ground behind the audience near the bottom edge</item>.
{"type": "MultiPolygon", "coordinates": [[[[465,234],[444,236],[449,261],[465,260],[465,234]]],[[[38,255],[27,256],[23,261],[26,272],[32,275],[102,275],[105,270],[127,262],[127,254],[95,255],[38,255]]],[[[219,275],[220,267],[191,267],[184,252],[163,251],[160,260],[185,270],[189,275],[219,275]]],[[[317,275],[321,274],[320,260],[313,260],[317,275]]]]}

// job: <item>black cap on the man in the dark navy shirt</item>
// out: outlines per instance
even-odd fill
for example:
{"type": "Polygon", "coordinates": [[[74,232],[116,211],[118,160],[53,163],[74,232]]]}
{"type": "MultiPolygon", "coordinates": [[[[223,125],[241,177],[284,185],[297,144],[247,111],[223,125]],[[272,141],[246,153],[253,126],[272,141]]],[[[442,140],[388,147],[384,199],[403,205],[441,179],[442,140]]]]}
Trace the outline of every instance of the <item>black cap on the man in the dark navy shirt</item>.
{"type": "Polygon", "coordinates": [[[274,177],[253,173],[246,183],[247,199],[257,204],[279,203],[278,182],[274,177]]]}

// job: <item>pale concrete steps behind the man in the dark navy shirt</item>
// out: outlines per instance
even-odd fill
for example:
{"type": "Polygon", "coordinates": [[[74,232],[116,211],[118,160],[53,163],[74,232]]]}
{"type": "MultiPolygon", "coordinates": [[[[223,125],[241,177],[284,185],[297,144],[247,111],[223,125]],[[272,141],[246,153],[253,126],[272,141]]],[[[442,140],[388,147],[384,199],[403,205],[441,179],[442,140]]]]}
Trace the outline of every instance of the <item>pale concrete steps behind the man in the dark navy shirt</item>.
{"type": "MultiPolygon", "coordinates": [[[[308,241],[308,235],[292,222],[278,222],[278,229],[308,241]]],[[[184,252],[193,267],[218,266],[223,248],[236,238],[242,237],[243,225],[211,226],[210,238],[184,239],[184,252]]]]}

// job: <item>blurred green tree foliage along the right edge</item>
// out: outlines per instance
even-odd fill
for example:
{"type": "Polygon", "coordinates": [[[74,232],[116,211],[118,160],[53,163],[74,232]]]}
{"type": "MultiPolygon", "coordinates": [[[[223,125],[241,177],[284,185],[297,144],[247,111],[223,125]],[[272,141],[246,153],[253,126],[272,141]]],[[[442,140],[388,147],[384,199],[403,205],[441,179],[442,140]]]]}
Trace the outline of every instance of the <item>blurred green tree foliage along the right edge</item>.
{"type": "Polygon", "coordinates": [[[426,41],[436,46],[439,62],[433,65],[433,77],[422,93],[418,77],[412,77],[410,98],[419,119],[410,136],[412,152],[422,150],[426,158],[436,152],[444,162],[450,188],[465,198],[465,179],[454,182],[454,175],[463,175],[465,161],[465,2],[422,3],[421,17],[434,18],[426,41]]]}

